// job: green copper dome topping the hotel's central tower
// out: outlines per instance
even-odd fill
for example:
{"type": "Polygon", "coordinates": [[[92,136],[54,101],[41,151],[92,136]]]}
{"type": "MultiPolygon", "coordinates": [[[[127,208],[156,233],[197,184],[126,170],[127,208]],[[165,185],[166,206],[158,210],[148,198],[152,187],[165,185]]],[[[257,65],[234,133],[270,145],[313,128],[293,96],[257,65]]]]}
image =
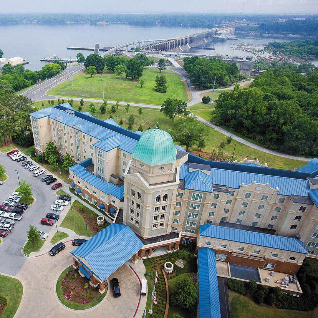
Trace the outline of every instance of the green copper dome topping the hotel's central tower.
{"type": "Polygon", "coordinates": [[[157,165],[175,162],[176,153],[172,137],[156,128],[148,129],[140,136],[131,156],[149,165],[157,165]]]}

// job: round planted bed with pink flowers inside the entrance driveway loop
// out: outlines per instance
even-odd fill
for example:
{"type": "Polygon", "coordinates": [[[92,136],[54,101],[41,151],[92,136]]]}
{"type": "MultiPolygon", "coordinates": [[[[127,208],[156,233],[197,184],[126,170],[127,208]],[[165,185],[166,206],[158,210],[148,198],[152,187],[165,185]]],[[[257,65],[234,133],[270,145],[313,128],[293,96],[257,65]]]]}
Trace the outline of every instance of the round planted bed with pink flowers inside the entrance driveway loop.
{"type": "Polygon", "coordinates": [[[100,294],[98,289],[98,287],[92,287],[86,277],[81,277],[73,266],[66,268],[56,283],[59,300],[66,307],[76,310],[96,306],[107,294],[107,290],[104,294],[100,294]]]}

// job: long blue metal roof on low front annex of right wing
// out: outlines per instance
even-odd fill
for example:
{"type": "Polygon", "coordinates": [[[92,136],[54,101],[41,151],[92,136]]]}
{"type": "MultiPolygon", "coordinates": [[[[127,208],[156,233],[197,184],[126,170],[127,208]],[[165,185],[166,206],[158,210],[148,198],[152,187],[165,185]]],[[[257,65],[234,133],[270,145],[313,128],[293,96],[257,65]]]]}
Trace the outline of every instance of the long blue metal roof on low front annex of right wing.
{"type": "Polygon", "coordinates": [[[212,224],[200,225],[200,236],[308,254],[303,242],[299,239],[285,236],[232,229],[212,224]]]}

